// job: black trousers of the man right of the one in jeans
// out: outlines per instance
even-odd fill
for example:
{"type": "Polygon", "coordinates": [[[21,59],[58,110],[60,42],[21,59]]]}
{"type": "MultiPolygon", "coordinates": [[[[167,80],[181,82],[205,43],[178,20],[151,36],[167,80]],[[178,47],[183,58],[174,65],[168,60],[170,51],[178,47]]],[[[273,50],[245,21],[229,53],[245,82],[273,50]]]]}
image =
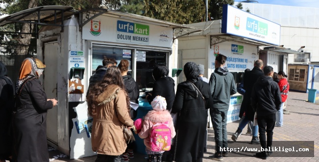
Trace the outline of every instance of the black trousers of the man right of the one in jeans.
{"type": "Polygon", "coordinates": [[[268,148],[272,145],[272,135],[273,129],[275,127],[276,122],[276,113],[261,116],[257,115],[257,122],[259,128],[259,140],[262,148],[268,148]],[[267,133],[267,141],[266,141],[266,133],[267,133]]]}

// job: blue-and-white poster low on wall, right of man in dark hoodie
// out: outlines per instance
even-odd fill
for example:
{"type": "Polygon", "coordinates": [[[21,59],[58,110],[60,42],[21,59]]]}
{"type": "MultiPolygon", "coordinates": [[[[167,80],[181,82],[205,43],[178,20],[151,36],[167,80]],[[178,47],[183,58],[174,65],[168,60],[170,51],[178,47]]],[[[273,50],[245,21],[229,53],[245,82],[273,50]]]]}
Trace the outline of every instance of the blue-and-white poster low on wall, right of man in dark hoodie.
{"type": "Polygon", "coordinates": [[[233,96],[230,98],[229,109],[227,112],[227,123],[239,120],[239,111],[242,103],[242,96],[233,96]]]}

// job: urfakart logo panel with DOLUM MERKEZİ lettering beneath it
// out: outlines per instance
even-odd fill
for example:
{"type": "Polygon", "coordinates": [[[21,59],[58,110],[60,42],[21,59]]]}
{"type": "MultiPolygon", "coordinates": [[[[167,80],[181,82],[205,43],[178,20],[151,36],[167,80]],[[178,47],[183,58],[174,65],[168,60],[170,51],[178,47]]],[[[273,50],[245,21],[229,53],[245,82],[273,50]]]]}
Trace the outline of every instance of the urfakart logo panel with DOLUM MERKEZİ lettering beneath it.
{"type": "Polygon", "coordinates": [[[119,42],[149,44],[150,27],[147,25],[118,20],[116,31],[116,40],[119,42]]]}

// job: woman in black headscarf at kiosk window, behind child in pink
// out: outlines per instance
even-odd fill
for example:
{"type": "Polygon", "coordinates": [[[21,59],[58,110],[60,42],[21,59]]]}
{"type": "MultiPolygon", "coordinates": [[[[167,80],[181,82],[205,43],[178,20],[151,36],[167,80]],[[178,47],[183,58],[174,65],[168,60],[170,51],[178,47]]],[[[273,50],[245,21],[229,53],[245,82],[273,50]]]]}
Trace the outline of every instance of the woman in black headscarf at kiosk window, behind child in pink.
{"type": "Polygon", "coordinates": [[[151,95],[146,96],[151,104],[156,96],[162,96],[166,99],[167,110],[171,110],[175,98],[175,82],[168,77],[169,70],[166,66],[157,66],[153,70],[153,78],[155,80],[151,95]]]}

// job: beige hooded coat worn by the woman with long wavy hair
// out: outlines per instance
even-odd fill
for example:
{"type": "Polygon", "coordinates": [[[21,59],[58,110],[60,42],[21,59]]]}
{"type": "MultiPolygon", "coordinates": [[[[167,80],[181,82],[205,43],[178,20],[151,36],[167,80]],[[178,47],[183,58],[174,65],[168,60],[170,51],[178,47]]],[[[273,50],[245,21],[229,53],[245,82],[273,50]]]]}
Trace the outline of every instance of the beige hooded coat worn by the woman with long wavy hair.
{"type": "Polygon", "coordinates": [[[96,100],[100,104],[96,108],[96,115],[92,116],[92,150],[98,154],[121,155],[127,147],[123,126],[133,126],[125,92],[117,85],[108,85],[96,100]]]}

